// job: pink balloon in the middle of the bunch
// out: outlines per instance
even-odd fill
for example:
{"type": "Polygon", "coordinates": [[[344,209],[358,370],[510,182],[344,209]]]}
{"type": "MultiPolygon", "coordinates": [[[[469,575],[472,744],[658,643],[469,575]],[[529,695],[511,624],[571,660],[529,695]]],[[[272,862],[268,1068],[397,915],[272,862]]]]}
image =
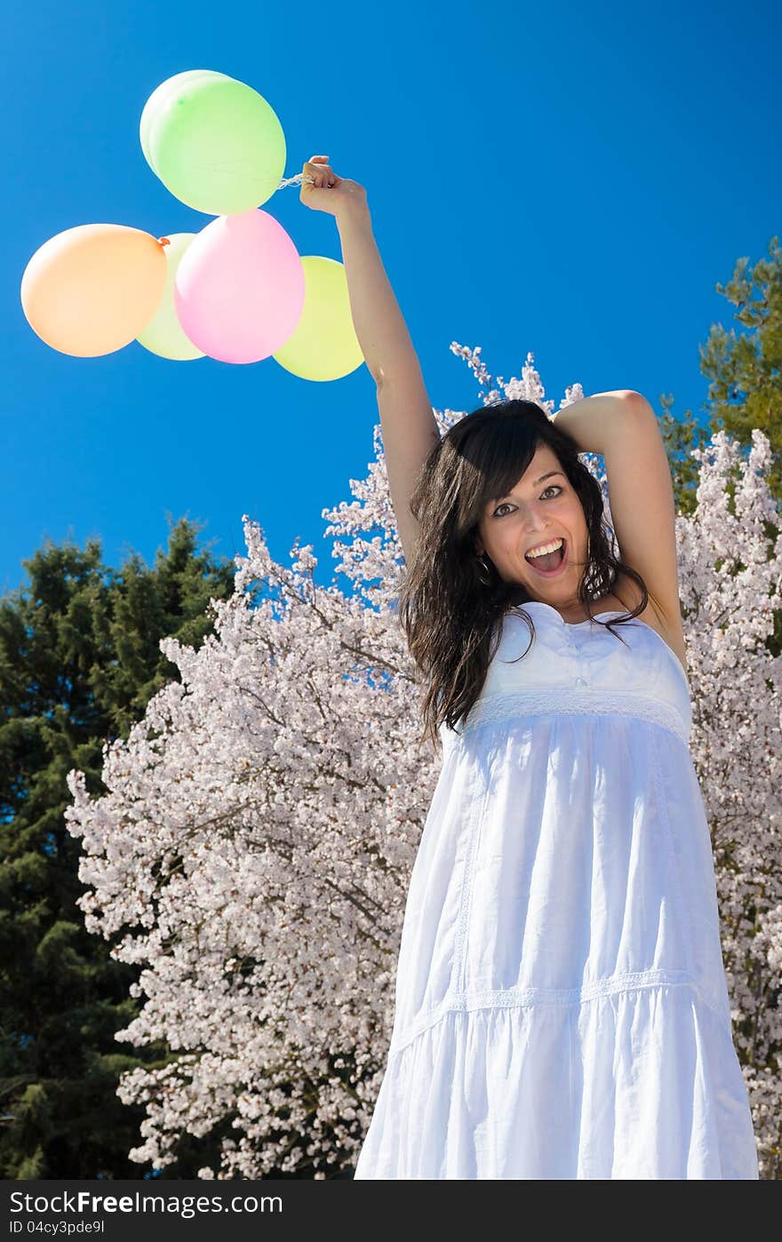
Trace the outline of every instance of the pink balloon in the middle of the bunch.
{"type": "Polygon", "coordinates": [[[218,216],[182,257],[174,306],[183,332],[209,358],[259,363],[285,344],[301,317],[298,251],[267,211],[218,216]]]}

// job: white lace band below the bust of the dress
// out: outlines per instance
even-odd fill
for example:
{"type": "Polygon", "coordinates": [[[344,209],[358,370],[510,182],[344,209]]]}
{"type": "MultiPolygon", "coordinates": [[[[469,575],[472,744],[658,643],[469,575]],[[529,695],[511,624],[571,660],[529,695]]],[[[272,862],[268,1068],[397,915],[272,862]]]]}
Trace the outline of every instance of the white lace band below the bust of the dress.
{"type": "Polygon", "coordinates": [[[508,722],[528,715],[545,715],[548,712],[571,715],[628,715],[650,724],[659,724],[675,733],[689,745],[690,728],[680,713],[668,703],[644,697],[637,691],[576,691],[569,686],[553,687],[546,691],[513,691],[510,694],[489,694],[479,698],[466,722],[455,730],[459,737],[472,733],[487,722],[508,722]]]}

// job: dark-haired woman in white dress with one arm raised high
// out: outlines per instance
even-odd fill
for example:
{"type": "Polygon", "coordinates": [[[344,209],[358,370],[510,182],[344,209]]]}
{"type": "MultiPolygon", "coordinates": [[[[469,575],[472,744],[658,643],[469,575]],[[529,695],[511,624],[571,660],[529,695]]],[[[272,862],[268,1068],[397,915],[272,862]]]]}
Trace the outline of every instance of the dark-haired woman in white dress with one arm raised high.
{"type": "Polygon", "coordinates": [[[499,401],[440,438],[364,191],[315,156],[302,201],[339,227],[444,755],[356,1177],[757,1179],[654,411],[499,401]]]}

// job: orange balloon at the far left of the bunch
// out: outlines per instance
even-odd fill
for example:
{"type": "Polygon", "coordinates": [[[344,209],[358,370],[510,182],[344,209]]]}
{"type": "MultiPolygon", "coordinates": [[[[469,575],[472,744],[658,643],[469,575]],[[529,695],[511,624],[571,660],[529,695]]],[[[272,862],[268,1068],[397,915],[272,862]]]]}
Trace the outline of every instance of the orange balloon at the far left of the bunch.
{"type": "Polygon", "coordinates": [[[27,323],[47,345],[73,358],[129,345],[160,303],[167,241],[127,225],[78,225],[50,237],[22,276],[27,323]]]}

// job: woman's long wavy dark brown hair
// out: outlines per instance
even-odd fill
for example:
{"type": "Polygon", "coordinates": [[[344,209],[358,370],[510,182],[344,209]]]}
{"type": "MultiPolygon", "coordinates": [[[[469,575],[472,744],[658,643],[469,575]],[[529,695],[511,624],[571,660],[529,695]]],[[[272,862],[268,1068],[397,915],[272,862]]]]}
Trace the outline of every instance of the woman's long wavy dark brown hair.
{"type": "MultiPolygon", "coordinates": [[[[556,453],[583,508],[589,540],[578,597],[589,616],[592,601],[612,592],[619,573],[638,584],[643,599],[627,616],[596,623],[613,633],[612,626],[646,607],[649,594],[640,574],[612,551],[600,484],[579,460],[572,436],[535,401],[494,401],[465,415],[429,453],[410,498],[419,538],[402,578],[399,620],[424,679],[420,741],[439,745],[439,725],[445,722],[453,729],[466,717],[500,643],[500,626],[491,641],[495,623],[532,599],[521,582],[505,582],[491,561],[477,559],[475,540],[486,504],[507,496],[540,445],[556,453]]],[[[535,625],[528,612],[521,616],[530,626],[531,645],[535,625]]]]}

